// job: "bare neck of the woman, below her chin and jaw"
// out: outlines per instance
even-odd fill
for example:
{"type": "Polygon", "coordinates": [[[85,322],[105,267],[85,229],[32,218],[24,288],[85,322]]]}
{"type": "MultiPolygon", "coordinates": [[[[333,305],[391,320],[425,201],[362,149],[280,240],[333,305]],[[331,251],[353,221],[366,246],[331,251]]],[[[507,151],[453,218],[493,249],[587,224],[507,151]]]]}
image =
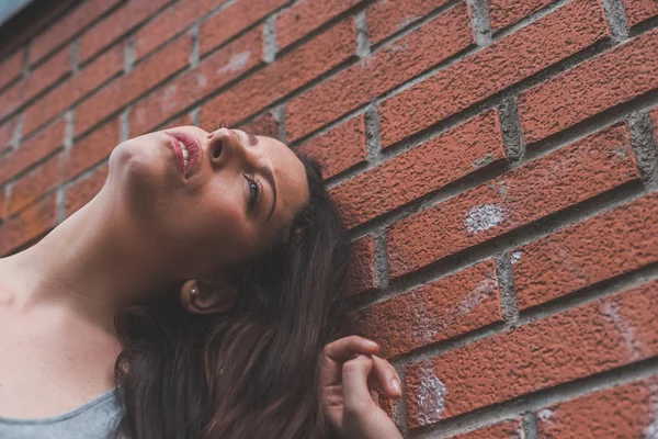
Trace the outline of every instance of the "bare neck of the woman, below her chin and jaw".
{"type": "Polygon", "coordinates": [[[105,185],[37,244],[0,259],[0,290],[19,311],[56,303],[113,331],[118,309],[164,286],[154,246],[112,195],[105,185]]]}

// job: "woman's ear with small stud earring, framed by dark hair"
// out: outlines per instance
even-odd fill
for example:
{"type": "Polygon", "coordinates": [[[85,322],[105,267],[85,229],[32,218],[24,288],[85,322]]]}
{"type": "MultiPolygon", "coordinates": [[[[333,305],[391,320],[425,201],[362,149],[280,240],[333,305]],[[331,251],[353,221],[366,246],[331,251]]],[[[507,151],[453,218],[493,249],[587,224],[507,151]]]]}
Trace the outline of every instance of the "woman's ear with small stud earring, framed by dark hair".
{"type": "Polygon", "coordinates": [[[181,286],[181,306],[191,314],[220,314],[236,302],[235,290],[225,280],[190,279],[181,286]]]}

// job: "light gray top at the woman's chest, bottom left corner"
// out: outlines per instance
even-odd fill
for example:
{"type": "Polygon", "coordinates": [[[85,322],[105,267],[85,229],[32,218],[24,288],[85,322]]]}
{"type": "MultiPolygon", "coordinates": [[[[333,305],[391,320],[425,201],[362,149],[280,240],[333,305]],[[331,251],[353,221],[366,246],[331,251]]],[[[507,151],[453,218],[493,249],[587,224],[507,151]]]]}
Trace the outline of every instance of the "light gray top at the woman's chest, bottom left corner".
{"type": "Polygon", "coordinates": [[[120,420],[116,389],[58,416],[41,419],[0,417],[2,439],[91,439],[109,438],[120,420]]]}

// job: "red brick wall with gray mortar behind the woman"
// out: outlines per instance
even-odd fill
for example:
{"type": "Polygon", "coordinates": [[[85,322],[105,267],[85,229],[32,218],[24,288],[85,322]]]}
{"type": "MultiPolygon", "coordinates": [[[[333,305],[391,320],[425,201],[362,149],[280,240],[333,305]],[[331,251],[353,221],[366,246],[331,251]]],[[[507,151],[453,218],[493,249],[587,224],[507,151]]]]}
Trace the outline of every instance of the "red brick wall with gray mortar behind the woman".
{"type": "Polygon", "coordinates": [[[0,60],[0,254],[249,126],[325,164],[406,437],[658,437],[654,0],[69,3],[0,60]]]}

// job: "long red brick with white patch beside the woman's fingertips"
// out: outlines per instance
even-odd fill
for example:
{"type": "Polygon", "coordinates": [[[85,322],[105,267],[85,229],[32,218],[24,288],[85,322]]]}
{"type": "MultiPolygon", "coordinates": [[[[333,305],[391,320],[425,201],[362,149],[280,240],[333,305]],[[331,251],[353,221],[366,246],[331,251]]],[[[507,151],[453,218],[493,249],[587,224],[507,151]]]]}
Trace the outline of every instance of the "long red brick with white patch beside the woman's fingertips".
{"type": "Polygon", "coordinates": [[[406,368],[409,427],[658,354],[658,281],[406,368]]]}

